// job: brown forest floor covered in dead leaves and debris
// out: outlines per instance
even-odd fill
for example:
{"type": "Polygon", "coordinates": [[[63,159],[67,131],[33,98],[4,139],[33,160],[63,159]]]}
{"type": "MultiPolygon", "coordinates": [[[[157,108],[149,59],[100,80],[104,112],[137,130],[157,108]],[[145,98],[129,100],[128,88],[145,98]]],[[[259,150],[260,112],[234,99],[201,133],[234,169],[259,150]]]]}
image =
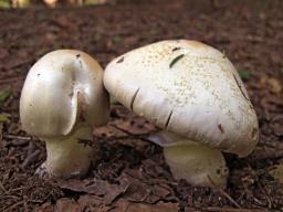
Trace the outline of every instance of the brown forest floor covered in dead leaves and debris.
{"type": "Polygon", "coordinates": [[[0,211],[283,211],[282,1],[161,2],[0,11],[0,211]],[[46,157],[44,144],[19,120],[32,64],[50,51],[78,49],[105,66],[165,39],[195,39],[224,51],[248,88],[260,142],[248,158],[226,155],[227,189],[174,180],[163,149],[144,139],[156,128],[118,104],[109,124],[94,131],[96,153],[86,178],[34,176],[46,157]]]}

